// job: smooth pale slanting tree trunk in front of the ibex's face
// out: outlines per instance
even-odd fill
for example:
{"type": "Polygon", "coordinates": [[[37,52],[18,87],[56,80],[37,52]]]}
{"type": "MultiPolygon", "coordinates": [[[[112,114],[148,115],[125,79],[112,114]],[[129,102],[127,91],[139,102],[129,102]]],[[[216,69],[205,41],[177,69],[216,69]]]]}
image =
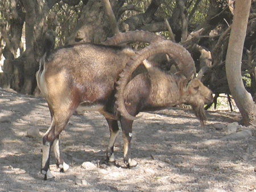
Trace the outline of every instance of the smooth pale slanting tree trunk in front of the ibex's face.
{"type": "Polygon", "coordinates": [[[242,82],[241,60],[245,41],[251,0],[237,0],[234,9],[234,20],[226,55],[226,76],[230,92],[239,108],[243,124],[256,126],[256,107],[253,98],[246,91],[242,82]]]}

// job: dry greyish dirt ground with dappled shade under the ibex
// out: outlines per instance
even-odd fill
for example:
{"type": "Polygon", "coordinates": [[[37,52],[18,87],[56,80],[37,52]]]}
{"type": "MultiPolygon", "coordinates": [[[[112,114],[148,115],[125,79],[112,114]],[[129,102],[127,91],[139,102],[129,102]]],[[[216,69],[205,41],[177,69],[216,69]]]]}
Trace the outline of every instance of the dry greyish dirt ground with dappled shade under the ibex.
{"type": "MultiPolygon", "coordinates": [[[[133,169],[122,162],[121,133],[115,156],[120,167],[101,164],[109,140],[97,112],[73,115],[60,136],[70,169],[60,173],[52,156],[53,180],[40,174],[42,135],[50,125],[43,98],[0,89],[0,191],[256,191],[254,127],[229,137],[237,112],[208,111],[205,129],[187,109],[145,112],[134,122],[133,169]],[[39,128],[39,136],[27,131],[39,128]]],[[[232,133],[231,133],[232,134],[232,133]]],[[[236,133],[235,133],[236,134],[236,133]]],[[[233,133],[234,135],[234,133],[233,133]]]]}

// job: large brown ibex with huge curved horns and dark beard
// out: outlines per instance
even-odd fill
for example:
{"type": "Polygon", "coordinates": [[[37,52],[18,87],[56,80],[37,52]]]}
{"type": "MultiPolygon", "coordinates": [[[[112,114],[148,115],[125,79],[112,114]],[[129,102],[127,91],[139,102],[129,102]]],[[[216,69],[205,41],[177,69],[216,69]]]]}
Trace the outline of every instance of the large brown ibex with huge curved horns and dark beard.
{"type": "MultiPolygon", "coordinates": [[[[119,43],[127,41],[122,40],[122,35],[127,34],[119,34],[119,43]]],[[[193,106],[201,123],[204,122],[203,105],[211,101],[212,93],[199,80],[190,78],[195,73],[195,64],[189,53],[180,45],[155,34],[141,31],[134,34],[134,39],[130,37],[133,41],[154,43],[138,52],[112,45],[76,44],[57,48],[43,56],[36,79],[52,118],[51,126],[43,136],[41,173],[45,180],[53,178],[49,170],[51,148],[60,171],[69,168],[60,154],[59,134],[77,107],[100,111],[105,116],[110,130],[106,149],[109,162],[115,161],[113,149],[119,130],[117,121],[121,122],[123,160],[127,166],[137,164],[131,160],[130,142],[131,127],[138,112],[187,103],[193,106]],[[136,39],[136,36],[141,39],[136,39]],[[141,65],[137,68],[139,62],[141,64],[148,56],[162,52],[175,57],[177,67],[188,78],[167,74],[154,67],[147,70],[141,65]],[[134,78],[128,82],[131,73],[134,78]]]]}

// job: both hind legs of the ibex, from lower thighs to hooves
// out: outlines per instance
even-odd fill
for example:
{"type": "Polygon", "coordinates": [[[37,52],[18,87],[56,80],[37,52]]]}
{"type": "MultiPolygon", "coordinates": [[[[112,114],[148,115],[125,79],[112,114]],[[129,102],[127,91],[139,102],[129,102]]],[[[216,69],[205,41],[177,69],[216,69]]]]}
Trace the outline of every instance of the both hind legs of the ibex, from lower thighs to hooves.
{"type": "Polygon", "coordinates": [[[52,116],[52,123],[49,127],[48,131],[43,136],[43,158],[42,158],[42,169],[41,173],[44,174],[44,180],[48,180],[54,178],[49,170],[49,162],[50,162],[50,152],[51,147],[53,147],[53,152],[55,153],[55,157],[57,160],[57,165],[62,170],[67,170],[69,167],[64,163],[59,149],[59,134],[66,126],[68,119],[73,114],[73,110],[66,114],[59,114],[57,112],[52,116]]]}

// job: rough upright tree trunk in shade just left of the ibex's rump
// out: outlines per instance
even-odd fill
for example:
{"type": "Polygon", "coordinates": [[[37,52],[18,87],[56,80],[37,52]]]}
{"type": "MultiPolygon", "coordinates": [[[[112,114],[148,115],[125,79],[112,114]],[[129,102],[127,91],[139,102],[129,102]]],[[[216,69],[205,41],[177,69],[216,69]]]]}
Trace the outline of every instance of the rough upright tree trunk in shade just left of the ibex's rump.
{"type": "Polygon", "coordinates": [[[14,89],[23,94],[32,94],[36,86],[35,73],[44,52],[44,36],[47,31],[46,14],[50,7],[42,0],[37,2],[21,0],[20,2],[22,2],[23,9],[26,10],[26,51],[13,61],[14,80],[16,81],[14,89]]]}

